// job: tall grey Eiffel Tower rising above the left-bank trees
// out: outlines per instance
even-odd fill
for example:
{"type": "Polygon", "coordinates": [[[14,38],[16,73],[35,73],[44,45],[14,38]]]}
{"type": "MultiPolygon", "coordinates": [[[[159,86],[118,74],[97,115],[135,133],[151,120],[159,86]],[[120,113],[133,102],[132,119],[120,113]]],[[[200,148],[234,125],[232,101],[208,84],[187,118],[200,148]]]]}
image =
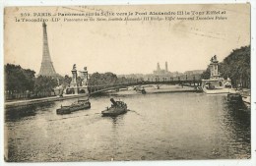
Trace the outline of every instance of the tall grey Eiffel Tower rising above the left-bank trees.
{"type": "Polygon", "coordinates": [[[48,39],[47,39],[47,30],[46,24],[42,23],[43,31],[43,45],[42,45],[42,60],[41,67],[38,76],[51,76],[56,77],[58,74],[55,72],[49,52],[48,39]]]}

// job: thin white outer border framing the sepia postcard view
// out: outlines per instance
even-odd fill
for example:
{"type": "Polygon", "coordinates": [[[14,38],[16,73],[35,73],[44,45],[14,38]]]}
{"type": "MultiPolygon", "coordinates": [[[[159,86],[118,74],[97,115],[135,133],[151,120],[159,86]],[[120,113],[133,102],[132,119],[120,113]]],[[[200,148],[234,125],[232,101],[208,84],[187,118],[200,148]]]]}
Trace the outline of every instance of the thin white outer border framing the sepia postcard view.
{"type": "MultiPolygon", "coordinates": [[[[88,166],[108,166],[108,165],[159,165],[159,166],[169,166],[169,165],[175,165],[175,166],[199,166],[199,165],[224,165],[224,166],[253,166],[256,165],[256,98],[255,98],[255,92],[256,92],[256,52],[255,52],[255,46],[256,46],[256,41],[255,41],[255,21],[256,21],[256,2],[254,0],[252,1],[246,1],[246,0],[183,0],[183,1],[178,1],[178,0],[130,0],[130,1],[123,1],[123,0],[90,0],[90,1],[83,1],[83,0],[6,0],[1,3],[1,8],[0,8],[0,21],[1,21],[1,27],[0,27],[0,38],[3,43],[3,9],[4,7],[7,6],[67,6],[67,5],[135,5],[135,4],[219,4],[219,3],[246,3],[249,2],[251,3],[251,91],[252,91],[252,104],[251,104],[251,159],[249,160],[171,160],[171,161],[129,161],[129,162],[53,162],[53,163],[7,163],[4,161],[4,96],[3,92],[1,93],[1,101],[0,101],[0,110],[2,111],[1,113],[1,118],[0,118],[0,123],[1,123],[1,130],[0,130],[0,136],[1,136],[1,151],[0,151],[0,165],[21,165],[21,166],[26,166],[26,165],[49,165],[49,166],[66,166],[66,165],[76,165],[76,166],[81,166],[81,165],[88,165],[88,166]],[[254,63],[253,63],[254,62],[254,63]]],[[[4,73],[4,62],[3,62],[3,44],[0,45],[0,66],[1,66],[1,77],[0,77],[0,91],[4,91],[4,78],[3,78],[3,73],[4,73]]]]}

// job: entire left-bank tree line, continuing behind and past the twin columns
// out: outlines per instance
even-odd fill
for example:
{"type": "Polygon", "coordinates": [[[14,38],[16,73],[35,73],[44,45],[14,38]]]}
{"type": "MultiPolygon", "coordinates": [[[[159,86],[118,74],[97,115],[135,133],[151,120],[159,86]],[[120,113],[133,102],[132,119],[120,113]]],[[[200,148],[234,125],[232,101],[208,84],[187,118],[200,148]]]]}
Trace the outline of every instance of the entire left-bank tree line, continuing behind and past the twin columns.
{"type": "MultiPolygon", "coordinates": [[[[65,77],[35,77],[35,72],[30,69],[23,69],[19,65],[5,65],[5,94],[7,99],[26,98],[26,97],[43,97],[52,95],[54,88],[62,84],[64,88],[68,87],[72,78],[65,77]]],[[[125,77],[117,78],[113,73],[104,74],[94,73],[90,76],[90,85],[113,85],[119,83],[136,82],[134,79],[125,77]]],[[[82,85],[82,79],[77,78],[78,85],[82,85]]]]}

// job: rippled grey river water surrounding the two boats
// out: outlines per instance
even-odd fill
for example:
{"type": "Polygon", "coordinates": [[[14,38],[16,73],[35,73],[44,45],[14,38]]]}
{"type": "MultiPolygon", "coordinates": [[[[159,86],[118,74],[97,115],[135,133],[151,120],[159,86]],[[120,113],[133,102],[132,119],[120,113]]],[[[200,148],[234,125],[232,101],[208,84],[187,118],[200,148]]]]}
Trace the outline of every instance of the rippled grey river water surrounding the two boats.
{"type": "Polygon", "coordinates": [[[92,108],[56,115],[76,99],[7,111],[8,161],[93,161],[250,158],[250,112],[225,95],[177,92],[104,95],[92,108]],[[101,117],[109,98],[130,111],[101,117]]]}

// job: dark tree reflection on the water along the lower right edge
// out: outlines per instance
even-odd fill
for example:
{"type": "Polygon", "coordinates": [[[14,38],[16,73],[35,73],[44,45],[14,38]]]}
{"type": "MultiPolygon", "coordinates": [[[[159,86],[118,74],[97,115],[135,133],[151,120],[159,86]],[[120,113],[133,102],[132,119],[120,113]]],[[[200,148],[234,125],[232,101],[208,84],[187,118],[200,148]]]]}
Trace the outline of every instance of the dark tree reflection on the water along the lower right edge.
{"type": "Polygon", "coordinates": [[[224,106],[223,127],[228,134],[228,151],[236,158],[250,158],[251,123],[250,111],[243,103],[226,103],[224,106]],[[249,144],[249,145],[248,145],[249,144]]]}

